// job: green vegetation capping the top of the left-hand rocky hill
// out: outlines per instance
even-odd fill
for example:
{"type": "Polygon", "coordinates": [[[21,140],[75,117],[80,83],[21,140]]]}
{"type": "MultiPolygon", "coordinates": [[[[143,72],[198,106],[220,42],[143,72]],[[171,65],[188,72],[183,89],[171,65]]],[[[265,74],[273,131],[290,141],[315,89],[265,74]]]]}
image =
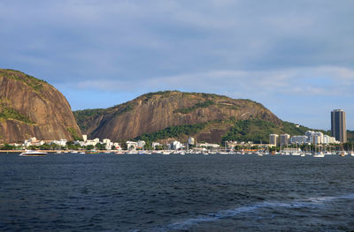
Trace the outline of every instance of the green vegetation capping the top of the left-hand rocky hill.
{"type": "Polygon", "coordinates": [[[47,82],[45,82],[44,80],[36,79],[35,77],[27,75],[21,71],[0,69],[0,75],[4,76],[5,78],[16,79],[16,80],[22,81],[27,86],[32,87],[35,91],[41,90],[42,85],[47,84],[47,82]]]}

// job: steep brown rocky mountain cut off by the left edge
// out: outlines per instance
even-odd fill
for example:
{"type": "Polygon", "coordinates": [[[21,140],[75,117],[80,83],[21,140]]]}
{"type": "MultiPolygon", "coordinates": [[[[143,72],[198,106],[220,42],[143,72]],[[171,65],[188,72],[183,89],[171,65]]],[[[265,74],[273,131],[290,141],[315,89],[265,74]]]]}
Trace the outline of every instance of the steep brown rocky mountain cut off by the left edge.
{"type": "Polygon", "coordinates": [[[0,142],[81,138],[63,94],[41,79],[0,69],[0,142]]]}

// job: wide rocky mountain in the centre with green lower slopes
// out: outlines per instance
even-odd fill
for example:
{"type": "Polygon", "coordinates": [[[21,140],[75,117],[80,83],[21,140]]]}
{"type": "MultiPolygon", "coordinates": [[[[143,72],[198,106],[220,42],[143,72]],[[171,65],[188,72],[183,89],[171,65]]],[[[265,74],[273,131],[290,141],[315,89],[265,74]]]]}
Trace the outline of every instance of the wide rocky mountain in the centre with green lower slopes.
{"type": "Polygon", "coordinates": [[[161,141],[193,136],[198,141],[220,142],[238,133],[242,136],[249,131],[251,135],[264,125],[273,131],[296,128],[295,124],[284,125],[255,101],[178,91],[143,94],[109,109],[85,109],[73,114],[82,133],[88,134],[89,138],[113,140],[144,138],[161,141]],[[235,131],[235,126],[242,126],[240,123],[248,124],[235,131]]]}

